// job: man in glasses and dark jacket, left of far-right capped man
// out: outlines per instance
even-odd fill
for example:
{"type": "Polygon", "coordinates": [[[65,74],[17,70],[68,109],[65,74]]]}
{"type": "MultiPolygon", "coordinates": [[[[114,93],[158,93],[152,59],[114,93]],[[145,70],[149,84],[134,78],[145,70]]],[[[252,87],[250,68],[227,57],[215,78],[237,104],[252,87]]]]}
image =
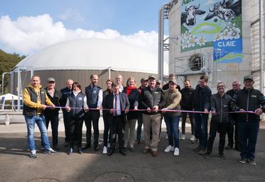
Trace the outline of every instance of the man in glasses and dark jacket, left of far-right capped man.
{"type": "Polygon", "coordinates": [[[224,154],[225,149],[225,134],[229,125],[229,106],[231,103],[231,97],[225,93],[225,84],[221,81],[217,84],[217,93],[212,94],[211,110],[212,118],[210,123],[210,133],[207,142],[207,152],[205,158],[210,158],[212,153],[212,144],[215,141],[216,133],[220,133],[218,157],[221,159],[227,159],[224,154]]]}

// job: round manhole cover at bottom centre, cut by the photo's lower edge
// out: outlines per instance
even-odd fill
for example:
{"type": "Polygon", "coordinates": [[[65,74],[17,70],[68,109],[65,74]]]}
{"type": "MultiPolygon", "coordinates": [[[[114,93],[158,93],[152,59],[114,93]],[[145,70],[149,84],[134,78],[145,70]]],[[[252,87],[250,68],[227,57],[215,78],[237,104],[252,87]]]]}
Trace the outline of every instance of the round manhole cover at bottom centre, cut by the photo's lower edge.
{"type": "Polygon", "coordinates": [[[134,182],[134,177],[129,174],[110,172],[100,174],[94,178],[94,182],[134,182]]]}

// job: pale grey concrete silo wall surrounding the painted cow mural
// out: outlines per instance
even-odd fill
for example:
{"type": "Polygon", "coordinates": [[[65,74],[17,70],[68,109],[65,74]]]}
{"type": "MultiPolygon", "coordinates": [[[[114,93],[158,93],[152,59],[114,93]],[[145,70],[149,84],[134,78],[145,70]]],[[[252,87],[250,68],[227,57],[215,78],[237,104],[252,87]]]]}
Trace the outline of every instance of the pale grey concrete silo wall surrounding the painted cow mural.
{"type": "MultiPolygon", "coordinates": [[[[231,89],[232,81],[242,81],[243,77],[247,74],[251,74],[252,71],[252,42],[251,42],[251,23],[252,23],[252,1],[242,0],[242,31],[243,31],[243,61],[241,63],[218,63],[212,64],[212,74],[210,74],[210,84],[213,91],[216,91],[217,81],[224,81],[227,84],[227,89],[231,89]],[[246,12],[246,13],[244,13],[246,12]]],[[[212,63],[212,47],[202,48],[198,50],[192,50],[189,52],[180,52],[181,35],[180,35],[180,17],[181,17],[181,1],[173,6],[169,13],[168,26],[169,37],[178,38],[178,44],[176,45],[170,40],[169,50],[169,72],[185,72],[188,57],[195,53],[200,53],[212,63]]],[[[202,6],[202,5],[201,5],[202,6]]],[[[210,66],[209,64],[209,67],[210,66]]],[[[192,80],[192,84],[197,84],[201,74],[187,76],[192,80]]],[[[179,80],[180,82],[180,80],[179,80]]]]}

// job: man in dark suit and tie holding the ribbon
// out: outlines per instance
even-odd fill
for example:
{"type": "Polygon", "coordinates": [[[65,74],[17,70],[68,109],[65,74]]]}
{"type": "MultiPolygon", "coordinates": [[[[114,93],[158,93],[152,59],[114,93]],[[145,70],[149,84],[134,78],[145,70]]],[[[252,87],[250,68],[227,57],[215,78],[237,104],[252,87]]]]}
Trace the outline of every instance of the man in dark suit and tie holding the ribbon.
{"type": "Polygon", "coordinates": [[[108,155],[112,155],[115,149],[116,135],[119,137],[119,152],[126,155],[124,148],[124,125],[126,123],[126,113],[129,112],[129,99],[126,93],[119,91],[119,85],[112,84],[112,93],[107,95],[102,103],[110,127],[110,148],[108,155]]]}

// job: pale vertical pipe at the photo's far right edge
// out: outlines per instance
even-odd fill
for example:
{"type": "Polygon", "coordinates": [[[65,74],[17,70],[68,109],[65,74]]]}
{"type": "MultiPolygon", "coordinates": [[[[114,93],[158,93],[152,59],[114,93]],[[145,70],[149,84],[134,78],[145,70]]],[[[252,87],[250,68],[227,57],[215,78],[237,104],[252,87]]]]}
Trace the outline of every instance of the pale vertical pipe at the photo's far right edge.
{"type": "Polygon", "coordinates": [[[263,88],[263,84],[264,84],[264,78],[263,78],[263,3],[262,1],[264,0],[259,0],[259,66],[260,66],[260,80],[259,80],[259,90],[263,93],[264,92],[264,88],[263,88]]]}

